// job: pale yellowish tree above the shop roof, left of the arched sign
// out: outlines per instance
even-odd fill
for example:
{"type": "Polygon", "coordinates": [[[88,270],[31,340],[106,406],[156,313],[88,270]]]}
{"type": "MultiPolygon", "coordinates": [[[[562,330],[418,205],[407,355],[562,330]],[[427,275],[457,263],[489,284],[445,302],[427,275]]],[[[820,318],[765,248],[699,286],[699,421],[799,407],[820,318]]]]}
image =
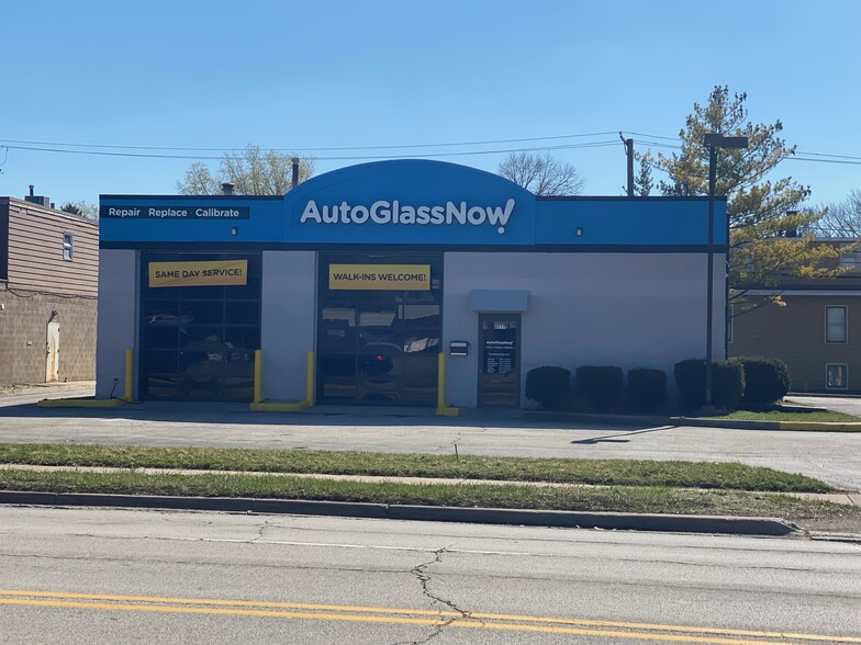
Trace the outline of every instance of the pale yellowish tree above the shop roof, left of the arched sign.
{"type": "MultiPolygon", "coordinates": [[[[213,195],[221,192],[222,183],[232,183],[239,195],[283,195],[292,186],[292,159],[293,155],[249,145],[242,152],[224,155],[217,178],[205,163],[192,163],[177,190],[183,195],[213,195]]],[[[300,158],[299,181],[313,173],[314,160],[300,158]]]]}

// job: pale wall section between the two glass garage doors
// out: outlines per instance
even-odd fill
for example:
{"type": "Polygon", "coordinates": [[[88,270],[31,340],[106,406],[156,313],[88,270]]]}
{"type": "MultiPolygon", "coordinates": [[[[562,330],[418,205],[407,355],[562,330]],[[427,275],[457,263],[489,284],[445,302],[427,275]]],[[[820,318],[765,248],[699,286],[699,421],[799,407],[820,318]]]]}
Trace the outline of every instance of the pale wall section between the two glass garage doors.
{"type": "Polygon", "coordinates": [[[305,398],[306,358],[315,344],[316,283],[314,251],[264,251],[260,349],[266,399],[305,398]]]}

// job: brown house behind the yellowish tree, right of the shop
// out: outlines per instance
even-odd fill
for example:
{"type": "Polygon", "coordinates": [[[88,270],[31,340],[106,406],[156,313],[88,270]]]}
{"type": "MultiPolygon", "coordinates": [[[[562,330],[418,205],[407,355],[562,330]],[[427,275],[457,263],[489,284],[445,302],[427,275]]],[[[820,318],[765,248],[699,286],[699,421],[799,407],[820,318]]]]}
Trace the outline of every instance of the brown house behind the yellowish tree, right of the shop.
{"type": "MultiPolygon", "coordinates": [[[[836,267],[838,260],[831,262],[836,267]]],[[[839,264],[847,272],[836,278],[793,279],[780,290],[748,292],[763,303],[781,293],[786,306],[764,304],[734,316],[729,355],[781,359],[792,392],[861,393],[861,251],[842,253],[839,264]]]]}

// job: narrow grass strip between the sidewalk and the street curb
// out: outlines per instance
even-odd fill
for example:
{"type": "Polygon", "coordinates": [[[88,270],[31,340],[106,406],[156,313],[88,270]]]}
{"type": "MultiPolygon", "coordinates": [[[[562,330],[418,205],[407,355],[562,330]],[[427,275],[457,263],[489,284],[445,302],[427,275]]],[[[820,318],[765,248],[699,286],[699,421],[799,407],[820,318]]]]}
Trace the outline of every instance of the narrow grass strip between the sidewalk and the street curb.
{"type": "Polygon", "coordinates": [[[614,511],[821,519],[861,516],[861,509],[739,490],[667,487],[578,488],[525,485],[377,484],[273,475],[195,475],[79,472],[0,472],[0,488],[191,497],[251,497],[455,506],[465,508],[614,511]]]}

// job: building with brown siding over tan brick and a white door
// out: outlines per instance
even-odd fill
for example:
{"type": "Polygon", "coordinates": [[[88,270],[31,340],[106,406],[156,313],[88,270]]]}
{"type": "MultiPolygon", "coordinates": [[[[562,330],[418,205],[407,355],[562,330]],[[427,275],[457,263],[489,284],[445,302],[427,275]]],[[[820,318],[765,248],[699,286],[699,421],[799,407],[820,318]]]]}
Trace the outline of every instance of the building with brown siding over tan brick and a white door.
{"type": "Polygon", "coordinates": [[[30,193],[0,197],[0,385],[90,381],[99,226],[30,193]]]}

